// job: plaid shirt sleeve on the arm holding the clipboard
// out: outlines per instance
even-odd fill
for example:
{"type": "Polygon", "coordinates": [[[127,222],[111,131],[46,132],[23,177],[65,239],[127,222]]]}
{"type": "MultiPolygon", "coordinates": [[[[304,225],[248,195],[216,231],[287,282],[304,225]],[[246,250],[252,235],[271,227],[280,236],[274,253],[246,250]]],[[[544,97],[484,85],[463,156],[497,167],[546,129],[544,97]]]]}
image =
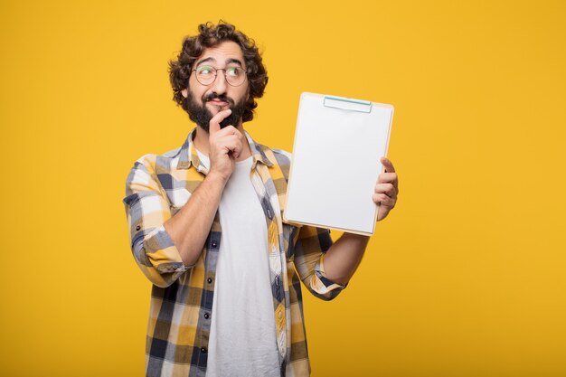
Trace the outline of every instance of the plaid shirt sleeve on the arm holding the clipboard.
{"type": "Polygon", "coordinates": [[[296,238],[293,262],[307,289],[323,300],[338,296],[345,286],[326,278],[323,267],[325,252],[332,246],[330,231],[305,225],[299,228],[296,238]]]}

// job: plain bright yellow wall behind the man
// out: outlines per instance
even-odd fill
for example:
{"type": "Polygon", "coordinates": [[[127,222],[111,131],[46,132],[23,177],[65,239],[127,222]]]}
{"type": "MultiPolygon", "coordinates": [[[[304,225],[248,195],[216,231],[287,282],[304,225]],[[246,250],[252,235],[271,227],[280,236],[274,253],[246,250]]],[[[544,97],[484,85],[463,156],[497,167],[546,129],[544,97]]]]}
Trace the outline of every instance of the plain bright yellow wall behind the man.
{"type": "Polygon", "coordinates": [[[184,141],[166,63],[223,18],[264,51],[260,142],[301,91],[396,107],[400,202],[307,297],[313,376],[566,375],[566,3],[268,4],[0,2],[0,374],[142,375],[124,182],[184,141]]]}

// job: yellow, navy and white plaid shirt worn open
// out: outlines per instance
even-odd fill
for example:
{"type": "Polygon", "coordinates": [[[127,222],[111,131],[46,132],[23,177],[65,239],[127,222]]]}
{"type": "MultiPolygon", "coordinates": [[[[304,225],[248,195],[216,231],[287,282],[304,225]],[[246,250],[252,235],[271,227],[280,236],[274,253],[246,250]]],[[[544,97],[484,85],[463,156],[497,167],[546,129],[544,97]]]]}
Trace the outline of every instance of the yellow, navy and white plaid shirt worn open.
{"type": "MultiPolygon", "coordinates": [[[[164,223],[190,199],[207,169],[193,146],[162,156],[146,155],[127,176],[126,205],[131,249],[153,283],[146,337],[147,376],[204,376],[212,319],[216,261],[222,241],[219,213],[193,266],[185,266],[164,223]]],[[[343,286],[325,278],[323,259],[329,232],[282,221],[290,155],[255,143],[250,179],[268,228],[269,276],[281,375],[310,372],[299,279],[316,297],[332,299],[343,286]]]]}

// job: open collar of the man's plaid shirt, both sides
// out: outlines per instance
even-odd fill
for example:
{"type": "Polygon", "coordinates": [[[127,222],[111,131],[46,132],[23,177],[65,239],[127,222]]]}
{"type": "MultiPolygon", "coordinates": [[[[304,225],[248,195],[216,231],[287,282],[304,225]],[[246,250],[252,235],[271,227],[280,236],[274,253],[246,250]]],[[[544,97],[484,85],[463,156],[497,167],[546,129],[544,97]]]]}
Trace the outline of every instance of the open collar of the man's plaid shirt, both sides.
{"type": "MultiPolygon", "coordinates": [[[[266,150],[269,150],[267,146],[262,146],[250,137],[246,131],[244,131],[246,138],[248,139],[248,144],[250,144],[251,156],[253,157],[253,163],[251,168],[255,168],[258,163],[272,166],[277,164],[277,161],[273,161],[274,157],[269,158],[266,155],[266,150]]],[[[193,131],[189,133],[189,136],[184,141],[183,146],[181,146],[181,151],[179,153],[179,162],[177,163],[177,169],[188,169],[193,165],[197,170],[207,174],[208,171],[204,167],[201,159],[196,153],[196,148],[194,147],[193,137],[196,135],[196,127],[193,131]]],[[[273,156],[272,153],[269,156],[273,156]]]]}

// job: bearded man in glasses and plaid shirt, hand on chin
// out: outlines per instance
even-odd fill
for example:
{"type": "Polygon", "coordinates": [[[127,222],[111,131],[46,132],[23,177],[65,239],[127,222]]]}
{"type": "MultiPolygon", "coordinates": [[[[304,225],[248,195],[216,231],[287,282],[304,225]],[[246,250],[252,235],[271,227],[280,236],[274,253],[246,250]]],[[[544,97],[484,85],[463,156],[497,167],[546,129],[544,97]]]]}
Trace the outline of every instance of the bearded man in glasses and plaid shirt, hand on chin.
{"type": "MultiPolygon", "coordinates": [[[[289,155],[243,129],[268,81],[253,41],[231,24],[201,24],[170,77],[197,127],[180,148],[137,160],[124,199],[134,257],[153,283],[146,375],[306,376],[299,280],[334,298],[368,237],[333,244],[326,230],[282,221],[289,155]]],[[[398,193],[382,164],[378,220],[398,193]]]]}

